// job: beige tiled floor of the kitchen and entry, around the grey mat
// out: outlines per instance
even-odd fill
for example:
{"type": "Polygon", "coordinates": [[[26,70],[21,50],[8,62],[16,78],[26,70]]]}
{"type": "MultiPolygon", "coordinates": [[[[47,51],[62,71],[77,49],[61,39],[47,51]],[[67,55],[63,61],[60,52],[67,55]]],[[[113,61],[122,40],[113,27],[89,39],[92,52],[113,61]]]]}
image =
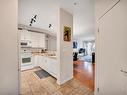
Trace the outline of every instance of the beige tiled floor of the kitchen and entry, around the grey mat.
{"type": "Polygon", "coordinates": [[[47,77],[40,79],[34,71],[40,68],[21,72],[21,95],[93,95],[93,92],[72,79],[59,86],[56,79],[47,77]]]}

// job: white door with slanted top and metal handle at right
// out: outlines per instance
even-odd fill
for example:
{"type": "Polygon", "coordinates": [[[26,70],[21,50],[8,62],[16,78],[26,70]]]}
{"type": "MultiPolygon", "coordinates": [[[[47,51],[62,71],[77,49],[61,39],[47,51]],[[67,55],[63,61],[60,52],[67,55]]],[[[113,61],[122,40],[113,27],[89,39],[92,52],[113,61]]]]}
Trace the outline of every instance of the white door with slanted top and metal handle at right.
{"type": "Polygon", "coordinates": [[[127,95],[127,0],[106,13],[98,28],[97,95],[127,95]]]}

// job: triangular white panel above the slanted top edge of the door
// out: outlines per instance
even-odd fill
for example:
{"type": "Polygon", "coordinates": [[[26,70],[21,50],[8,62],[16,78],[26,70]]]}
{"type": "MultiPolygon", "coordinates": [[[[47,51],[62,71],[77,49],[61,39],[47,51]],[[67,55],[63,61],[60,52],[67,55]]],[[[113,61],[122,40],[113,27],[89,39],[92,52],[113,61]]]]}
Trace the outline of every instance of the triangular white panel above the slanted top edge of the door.
{"type": "Polygon", "coordinates": [[[116,5],[120,0],[95,0],[96,19],[100,19],[107,11],[116,5]]]}

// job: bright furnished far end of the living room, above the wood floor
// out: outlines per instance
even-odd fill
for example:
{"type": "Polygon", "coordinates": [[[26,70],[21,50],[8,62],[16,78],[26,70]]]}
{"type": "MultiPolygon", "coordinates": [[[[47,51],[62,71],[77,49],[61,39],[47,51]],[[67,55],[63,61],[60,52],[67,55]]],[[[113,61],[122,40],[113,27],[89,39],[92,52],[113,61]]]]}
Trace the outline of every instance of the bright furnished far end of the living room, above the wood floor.
{"type": "Polygon", "coordinates": [[[95,40],[73,42],[74,61],[95,63],[95,40]]]}

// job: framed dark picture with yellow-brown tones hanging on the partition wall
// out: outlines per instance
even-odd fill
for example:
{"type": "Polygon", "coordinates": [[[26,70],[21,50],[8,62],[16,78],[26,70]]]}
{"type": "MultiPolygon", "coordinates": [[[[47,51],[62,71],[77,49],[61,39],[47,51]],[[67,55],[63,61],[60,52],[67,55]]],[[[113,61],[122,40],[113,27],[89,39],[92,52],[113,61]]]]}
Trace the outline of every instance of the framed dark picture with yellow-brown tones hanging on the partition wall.
{"type": "Polygon", "coordinates": [[[64,41],[71,41],[71,27],[64,26],[64,41]]]}

